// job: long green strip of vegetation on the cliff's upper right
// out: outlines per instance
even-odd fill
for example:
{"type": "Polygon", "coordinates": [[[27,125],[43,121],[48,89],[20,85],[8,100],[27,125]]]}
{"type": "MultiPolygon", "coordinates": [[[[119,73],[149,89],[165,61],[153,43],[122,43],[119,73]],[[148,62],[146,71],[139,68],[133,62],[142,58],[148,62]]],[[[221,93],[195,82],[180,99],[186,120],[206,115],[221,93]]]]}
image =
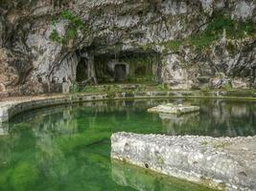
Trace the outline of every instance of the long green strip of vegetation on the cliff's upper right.
{"type": "MultiPolygon", "coordinates": [[[[254,35],[256,27],[253,21],[236,21],[230,17],[222,14],[215,16],[207,25],[206,29],[202,32],[194,33],[184,39],[170,40],[160,43],[158,45],[164,46],[166,50],[177,52],[182,45],[193,46],[198,50],[209,47],[214,41],[221,39],[225,33],[228,39],[242,39],[246,36],[254,35]]],[[[143,45],[144,50],[151,49],[155,44],[149,43],[143,45]]],[[[228,43],[227,49],[229,53],[236,53],[237,48],[235,45],[228,43]]]]}

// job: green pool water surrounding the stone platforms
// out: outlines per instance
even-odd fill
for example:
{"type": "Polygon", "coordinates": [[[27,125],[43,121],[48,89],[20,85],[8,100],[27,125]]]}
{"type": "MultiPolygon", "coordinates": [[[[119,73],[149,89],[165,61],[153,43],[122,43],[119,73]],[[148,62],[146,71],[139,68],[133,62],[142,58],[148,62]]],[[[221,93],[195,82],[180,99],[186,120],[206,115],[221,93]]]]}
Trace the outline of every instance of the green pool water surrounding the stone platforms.
{"type": "Polygon", "coordinates": [[[18,115],[0,128],[0,190],[208,190],[111,162],[114,132],[168,135],[256,135],[255,102],[207,99],[83,103],[18,115]],[[192,103],[198,114],[148,114],[162,102],[192,103]]]}

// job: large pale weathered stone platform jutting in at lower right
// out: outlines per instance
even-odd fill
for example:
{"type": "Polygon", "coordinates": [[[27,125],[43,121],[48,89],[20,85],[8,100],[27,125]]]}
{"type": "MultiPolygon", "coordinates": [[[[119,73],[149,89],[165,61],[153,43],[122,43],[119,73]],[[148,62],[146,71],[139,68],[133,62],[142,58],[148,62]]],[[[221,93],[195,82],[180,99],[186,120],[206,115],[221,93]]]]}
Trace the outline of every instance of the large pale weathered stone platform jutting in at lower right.
{"type": "Polygon", "coordinates": [[[116,133],[111,158],[220,190],[256,190],[256,137],[116,133]]]}

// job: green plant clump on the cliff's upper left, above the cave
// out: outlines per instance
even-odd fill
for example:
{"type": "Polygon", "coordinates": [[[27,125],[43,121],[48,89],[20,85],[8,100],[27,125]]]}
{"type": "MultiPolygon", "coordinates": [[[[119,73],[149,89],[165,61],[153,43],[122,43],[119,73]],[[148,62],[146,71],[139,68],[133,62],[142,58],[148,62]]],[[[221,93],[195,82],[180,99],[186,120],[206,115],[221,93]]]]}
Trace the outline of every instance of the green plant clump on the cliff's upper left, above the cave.
{"type": "MultiPolygon", "coordinates": [[[[54,30],[50,35],[50,39],[59,44],[67,44],[71,39],[77,37],[78,31],[85,32],[88,29],[81,18],[70,11],[61,11],[60,18],[68,21],[65,34],[60,35],[57,30],[54,30]]],[[[54,16],[52,23],[56,25],[58,23],[58,17],[54,16]]]]}

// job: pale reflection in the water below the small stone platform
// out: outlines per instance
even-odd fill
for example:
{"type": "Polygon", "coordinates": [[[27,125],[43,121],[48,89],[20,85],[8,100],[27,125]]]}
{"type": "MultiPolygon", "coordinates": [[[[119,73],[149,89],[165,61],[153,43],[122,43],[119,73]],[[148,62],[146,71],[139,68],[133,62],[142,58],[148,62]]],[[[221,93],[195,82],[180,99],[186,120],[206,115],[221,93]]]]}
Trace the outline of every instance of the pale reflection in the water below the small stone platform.
{"type": "Polygon", "coordinates": [[[199,113],[176,116],[171,114],[159,114],[167,135],[178,135],[180,132],[191,131],[191,128],[198,128],[199,113]]]}

